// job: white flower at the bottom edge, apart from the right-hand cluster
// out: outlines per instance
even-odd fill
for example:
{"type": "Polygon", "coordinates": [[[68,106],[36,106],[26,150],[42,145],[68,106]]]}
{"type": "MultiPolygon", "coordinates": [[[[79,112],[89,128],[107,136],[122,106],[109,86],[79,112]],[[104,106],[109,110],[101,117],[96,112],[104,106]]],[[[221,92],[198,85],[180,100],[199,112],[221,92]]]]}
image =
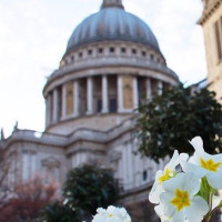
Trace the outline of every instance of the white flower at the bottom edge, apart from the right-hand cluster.
{"type": "Polygon", "coordinates": [[[99,208],[92,222],[131,222],[131,218],[124,208],[115,208],[113,205],[108,209],[99,208]]]}

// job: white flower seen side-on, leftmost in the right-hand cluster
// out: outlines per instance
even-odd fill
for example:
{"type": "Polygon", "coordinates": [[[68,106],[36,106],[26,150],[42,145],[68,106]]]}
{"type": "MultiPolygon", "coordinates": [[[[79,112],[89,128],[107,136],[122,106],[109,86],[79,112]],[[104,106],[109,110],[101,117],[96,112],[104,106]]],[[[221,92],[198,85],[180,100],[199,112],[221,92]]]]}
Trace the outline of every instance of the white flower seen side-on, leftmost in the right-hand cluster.
{"type": "Polygon", "coordinates": [[[176,165],[180,164],[181,161],[186,161],[188,160],[188,154],[185,153],[181,153],[179,155],[178,151],[175,150],[173,153],[172,159],[170,160],[170,162],[165,165],[164,170],[159,170],[155,173],[155,181],[153,183],[153,186],[150,191],[149,194],[149,201],[151,203],[160,203],[160,193],[162,192],[162,184],[164,181],[173,178],[175,175],[175,168],[176,165]]]}

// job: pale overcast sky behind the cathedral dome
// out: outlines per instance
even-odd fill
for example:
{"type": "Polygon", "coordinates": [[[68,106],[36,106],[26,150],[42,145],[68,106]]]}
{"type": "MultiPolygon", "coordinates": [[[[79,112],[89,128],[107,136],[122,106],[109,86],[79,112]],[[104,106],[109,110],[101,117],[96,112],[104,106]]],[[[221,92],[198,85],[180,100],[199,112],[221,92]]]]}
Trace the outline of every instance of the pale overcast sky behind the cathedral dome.
{"type": "MultiPolygon", "coordinates": [[[[102,0],[0,1],[0,128],[44,130],[42,88],[58,69],[72,31],[102,0]]],[[[205,78],[201,0],[123,0],[155,34],[168,65],[180,80],[205,78]]]]}

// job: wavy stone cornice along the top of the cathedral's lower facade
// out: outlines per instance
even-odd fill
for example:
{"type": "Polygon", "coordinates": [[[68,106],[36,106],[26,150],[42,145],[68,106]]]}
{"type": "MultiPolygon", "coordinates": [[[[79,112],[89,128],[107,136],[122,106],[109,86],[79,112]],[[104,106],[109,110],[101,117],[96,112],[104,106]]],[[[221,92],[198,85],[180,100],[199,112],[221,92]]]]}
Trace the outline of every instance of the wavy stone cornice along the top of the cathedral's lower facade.
{"type": "MultiPolygon", "coordinates": [[[[3,149],[9,148],[12,143],[26,142],[36,143],[40,145],[50,145],[64,149],[74,144],[79,141],[91,142],[91,143],[109,143],[125,133],[133,131],[135,120],[133,117],[124,120],[119,125],[103,132],[91,129],[78,129],[69,135],[60,135],[52,133],[39,133],[30,130],[17,130],[10,138],[6,139],[3,149]]],[[[99,149],[98,149],[99,150],[99,149]]]]}

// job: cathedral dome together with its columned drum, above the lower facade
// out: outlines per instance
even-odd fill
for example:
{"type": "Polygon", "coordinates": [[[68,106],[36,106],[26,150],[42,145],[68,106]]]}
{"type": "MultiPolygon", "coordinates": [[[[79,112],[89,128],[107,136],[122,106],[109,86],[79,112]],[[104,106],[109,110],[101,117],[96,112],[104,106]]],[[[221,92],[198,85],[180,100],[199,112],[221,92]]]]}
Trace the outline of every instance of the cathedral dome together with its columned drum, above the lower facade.
{"type": "Polygon", "coordinates": [[[103,0],[73,31],[47,81],[47,132],[107,132],[132,118],[142,98],[174,84],[178,75],[145,22],[125,12],[122,0],[103,0]]]}

